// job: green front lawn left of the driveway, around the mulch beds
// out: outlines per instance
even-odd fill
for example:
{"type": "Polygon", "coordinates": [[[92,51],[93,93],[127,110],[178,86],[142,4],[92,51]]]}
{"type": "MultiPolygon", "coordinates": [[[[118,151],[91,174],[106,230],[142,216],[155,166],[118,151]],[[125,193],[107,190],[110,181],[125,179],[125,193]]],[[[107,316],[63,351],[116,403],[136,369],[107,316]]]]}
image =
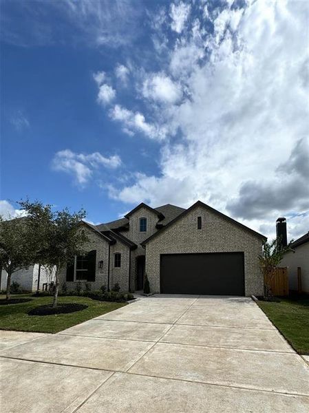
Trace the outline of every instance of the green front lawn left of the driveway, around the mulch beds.
{"type": "MultiPolygon", "coordinates": [[[[125,303],[96,301],[87,297],[58,297],[59,303],[86,304],[88,308],[69,314],[30,316],[27,314],[28,311],[37,306],[51,304],[52,297],[31,297],[30,294],[12,295],[12,298],[14,297],[30,297],[32,301],[0,306],[1,330],[58,332],[126,305],[125,303]]],[[[5,296],[0,295],[0,299],[3,298],[5,296]]]]}

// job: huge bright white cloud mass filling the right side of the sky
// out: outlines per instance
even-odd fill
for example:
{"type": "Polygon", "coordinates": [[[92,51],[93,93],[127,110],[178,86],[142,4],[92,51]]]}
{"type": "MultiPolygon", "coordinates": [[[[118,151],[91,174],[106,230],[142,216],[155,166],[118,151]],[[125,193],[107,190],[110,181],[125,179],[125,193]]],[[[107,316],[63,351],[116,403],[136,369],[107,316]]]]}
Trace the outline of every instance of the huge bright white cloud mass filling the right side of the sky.
{"type": "MultiPolygon", "coordinates": [[[[203,32],[201,22],[201,28],[195,24],[194,39],[187,34],[170,45],[164,62],[169,71],[164,70],[185,94],[178,105],[171,100],[160,108],[153,100],[151,115],[153,125],[178,129],[180,140],[162,141],[158,176],[136,174],[133,184],[111,190],[111,196],[152,206],[174,202],[186,207],[200,199],[238,215],[257,231],[273,228],[283,213],[306,213],[308,193],[295,191],[300,178],[294,170],[290,176],[282,173],[279,166],[288,170],[294,165],[297,142],[308,140],[307,17],[306,2],[255,1],[239,10],[227,6],[212,14],[213,33],[203,32]],[[293,177],[298,179],[294,183],[293,177]],[[255,199],[263,197],[258,213],[252,202],[241,207],[251,181],[255,199]],[[284,191],[290,191],[292,202],[284,191]],[[231,209],[232,200],[240,206],[237,211],[231,209]]],[[[156,63],[162,64],[162,56],[156,63]]],[[[134,112],[124,111],[122,122],[134,130],[134,112]]],[[[301,182],[308,182],[306,168],[303,173],[301,182]]],[[[293,237],[306,232],[295,220],[290,218],[293,237]]]]}

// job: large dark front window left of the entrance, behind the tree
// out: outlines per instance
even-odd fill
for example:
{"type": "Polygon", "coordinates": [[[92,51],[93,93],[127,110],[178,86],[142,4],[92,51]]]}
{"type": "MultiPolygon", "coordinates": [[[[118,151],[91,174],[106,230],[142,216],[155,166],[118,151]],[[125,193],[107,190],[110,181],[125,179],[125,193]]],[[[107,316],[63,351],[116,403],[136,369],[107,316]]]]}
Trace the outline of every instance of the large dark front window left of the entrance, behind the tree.
{"type": "Polygon", "coordinates": [[[67,281],[96,280],[96,250],[85,255],[78,255],[67,265],[67,281]]]}

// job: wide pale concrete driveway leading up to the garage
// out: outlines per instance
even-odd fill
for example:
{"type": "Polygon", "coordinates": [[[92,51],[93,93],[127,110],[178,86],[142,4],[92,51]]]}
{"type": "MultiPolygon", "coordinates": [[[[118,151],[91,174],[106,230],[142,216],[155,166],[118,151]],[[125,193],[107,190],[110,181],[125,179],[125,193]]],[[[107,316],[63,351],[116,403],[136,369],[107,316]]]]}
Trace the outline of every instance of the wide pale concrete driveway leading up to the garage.
{"type": "Polygon", "coordinates": [[[157,295],[1,332],[1,412],[307,412],[309,366],[248,298],[157,295]]]}

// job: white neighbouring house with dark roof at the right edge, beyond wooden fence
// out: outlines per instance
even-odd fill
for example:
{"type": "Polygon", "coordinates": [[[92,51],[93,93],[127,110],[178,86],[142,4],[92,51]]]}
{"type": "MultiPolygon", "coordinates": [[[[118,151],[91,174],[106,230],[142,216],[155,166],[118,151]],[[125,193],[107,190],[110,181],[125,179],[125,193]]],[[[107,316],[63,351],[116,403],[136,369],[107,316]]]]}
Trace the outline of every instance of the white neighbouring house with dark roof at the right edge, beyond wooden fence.
{"type": "Polygon", "coordinates": [[[301,268],[301,287],[309,293],[309,232],[292,242],[293,251],[288,251],[280,262],[281,267],[288,267],[290,290],[298,290],[297,267],[301,268]]]}

